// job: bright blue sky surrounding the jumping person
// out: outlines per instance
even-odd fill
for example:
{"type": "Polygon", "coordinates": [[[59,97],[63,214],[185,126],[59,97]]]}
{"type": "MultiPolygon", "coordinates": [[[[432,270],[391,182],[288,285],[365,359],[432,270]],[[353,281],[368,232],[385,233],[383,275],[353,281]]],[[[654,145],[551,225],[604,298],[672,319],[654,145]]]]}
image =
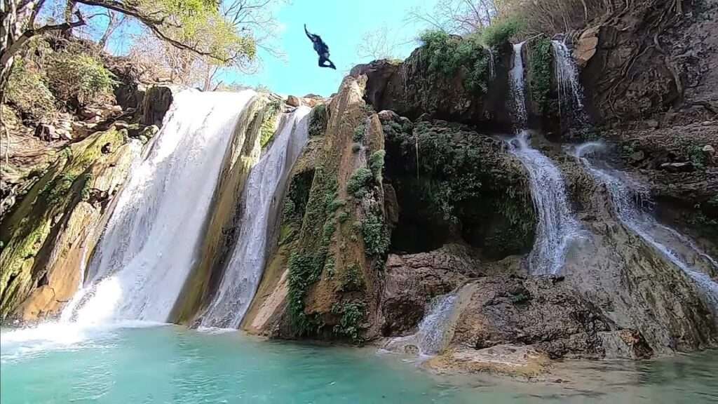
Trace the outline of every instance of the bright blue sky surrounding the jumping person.
{"type": "Polygon", "coordinates": [[[315,93],[330,96],[337,91],[344,75],[357,63],[367,62],[357,55],[357,47],[365,32],[388,27],[398,44],[395,53],[405,58],[417,46],[414,38],[421,27],[406,24],[406,10],[413,6],[433,4],[431,0],[294,0],[282,6],[277,17],[283,30],[277,45],[286,60],[263,54],[264,67],[255,75],[225,75],[226,81],[256,86],[261,84],[282,94],[304,96],[315,93]],[[304,35],[322,36],[330,47],[331,60],[337,70],[317,66],[317,53],[304,35]]]}

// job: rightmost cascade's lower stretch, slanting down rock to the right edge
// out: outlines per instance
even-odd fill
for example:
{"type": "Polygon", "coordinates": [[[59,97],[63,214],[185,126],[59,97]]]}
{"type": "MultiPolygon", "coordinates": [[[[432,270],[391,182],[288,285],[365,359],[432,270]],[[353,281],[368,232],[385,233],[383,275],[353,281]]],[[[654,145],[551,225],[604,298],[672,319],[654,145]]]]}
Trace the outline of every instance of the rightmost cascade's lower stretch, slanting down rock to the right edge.
{"type": "Polygon", "coordinates": [[[589,173],[605,185],[621,223],[684,271],[696,283],[707,303],[718,316],[718,283],[697,268],[704,265],[718,270],[716,260],[702,252],[684,234],[656,221],[645,208],[650,206],[650,196],[644,185],[628,178],[618,170],[607,166],[598,167],[589,160],[589,155],[600,152],[604,148],[604,144],[600,142],[588,142],[576,147],[574,153],[589,173]]]}

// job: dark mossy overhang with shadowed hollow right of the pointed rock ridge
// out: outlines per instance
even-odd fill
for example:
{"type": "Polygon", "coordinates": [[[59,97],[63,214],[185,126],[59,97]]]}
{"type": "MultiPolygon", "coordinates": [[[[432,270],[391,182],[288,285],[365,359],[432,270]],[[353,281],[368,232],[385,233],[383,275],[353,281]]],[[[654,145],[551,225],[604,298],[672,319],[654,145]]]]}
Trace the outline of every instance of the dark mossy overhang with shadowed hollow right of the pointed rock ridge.
{"type": "Polygon", "coordinates": [[[401,206],[393,249],[465,242],[492,259],[530,251],[528,176],[503,142],[457,124],[386,116],[386,177],[401,206]]]}

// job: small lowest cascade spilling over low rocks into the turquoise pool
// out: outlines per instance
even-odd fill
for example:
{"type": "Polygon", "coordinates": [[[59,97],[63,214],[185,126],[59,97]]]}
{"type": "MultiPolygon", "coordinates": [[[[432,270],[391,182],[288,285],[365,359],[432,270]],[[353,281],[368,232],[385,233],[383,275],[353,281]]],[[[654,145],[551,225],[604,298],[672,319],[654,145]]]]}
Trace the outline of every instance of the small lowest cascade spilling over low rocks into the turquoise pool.
{"type": "Polygon", "coordinates": [[[421,355],[436,355],[452,338],[451,318],[456,306],[456,293],[434,298],[426,316],[419,323],[419,330],[410,336],[391,339],[385,346],[389,351],[406,351],[408,346],[416,346],[421,355]]]}

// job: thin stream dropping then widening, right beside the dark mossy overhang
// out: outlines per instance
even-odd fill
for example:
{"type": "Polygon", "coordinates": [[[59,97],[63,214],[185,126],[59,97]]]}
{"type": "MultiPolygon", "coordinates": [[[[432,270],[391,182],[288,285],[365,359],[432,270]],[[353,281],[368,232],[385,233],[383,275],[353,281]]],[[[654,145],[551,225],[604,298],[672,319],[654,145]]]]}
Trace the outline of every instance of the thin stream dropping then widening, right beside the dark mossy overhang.
{"type": "Polygon", "coordinates": [[[564,180],[554,162],[531,148],[526,131],[526,101],[523,96],[523,42],[513,45],[513,68],[510,71],[518,133],[508,139],[510,152],[528,171],[533,205],[538,213],[536,242],[529,255],[532,274],[556,274],[564,264],[567,247],[579,234],[567,201],[564,180]]]}

